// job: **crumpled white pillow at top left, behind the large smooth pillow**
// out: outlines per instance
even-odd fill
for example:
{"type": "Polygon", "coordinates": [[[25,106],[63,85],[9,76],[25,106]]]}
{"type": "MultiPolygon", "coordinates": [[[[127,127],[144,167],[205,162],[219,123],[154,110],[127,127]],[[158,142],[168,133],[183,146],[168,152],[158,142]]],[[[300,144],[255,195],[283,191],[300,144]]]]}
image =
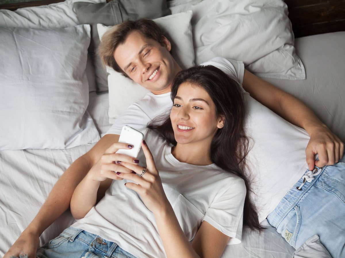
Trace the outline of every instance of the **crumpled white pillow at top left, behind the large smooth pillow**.
{"type": "MultiPolygon", "coordinates": [[[[6,28],[66,28],[79,24],[73,3],[66,0],[43,6],[25,7],[16,11],[0,10],[0,27],[6,28]]],[[[106,0],[84,0],[83,2],[103,3],[106,0]]],[[[90,58],[89,58],[90,59],[90,58]]],[[[95,71],[91,59],[87,62],[89,91],[96,90],[95,71]]]]}

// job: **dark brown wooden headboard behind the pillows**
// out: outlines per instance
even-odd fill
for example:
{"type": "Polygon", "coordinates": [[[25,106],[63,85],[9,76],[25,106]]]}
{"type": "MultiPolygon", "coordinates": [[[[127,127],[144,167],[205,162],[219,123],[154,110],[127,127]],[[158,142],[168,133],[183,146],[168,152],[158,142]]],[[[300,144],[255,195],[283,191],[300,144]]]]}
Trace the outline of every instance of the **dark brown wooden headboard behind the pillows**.
{"type": "MultiPolygon", "coordinates": [[[[16,10],[57,2],[62,0],[0,4],[0,9],[16,10]]],[[[296,38],[345,31],[345,0],[285,0],[285,3],[288,6],[289,18],[296,38]]]]}

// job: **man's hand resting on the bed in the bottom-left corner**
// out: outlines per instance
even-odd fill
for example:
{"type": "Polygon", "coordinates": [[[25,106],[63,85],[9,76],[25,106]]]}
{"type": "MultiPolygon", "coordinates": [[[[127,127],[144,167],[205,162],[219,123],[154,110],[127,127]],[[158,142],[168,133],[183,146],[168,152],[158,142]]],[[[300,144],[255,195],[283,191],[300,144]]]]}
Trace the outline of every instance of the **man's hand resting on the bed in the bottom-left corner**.
{"type": "Polygon", "coordinates": [[[21,252],[27,254],[29,258],[36,257],[36,251],[39,247],[39,244],[39,235],[26,229],[7,251],[4,258],[10,258],[11,256],[19,257],[21,252]]]}

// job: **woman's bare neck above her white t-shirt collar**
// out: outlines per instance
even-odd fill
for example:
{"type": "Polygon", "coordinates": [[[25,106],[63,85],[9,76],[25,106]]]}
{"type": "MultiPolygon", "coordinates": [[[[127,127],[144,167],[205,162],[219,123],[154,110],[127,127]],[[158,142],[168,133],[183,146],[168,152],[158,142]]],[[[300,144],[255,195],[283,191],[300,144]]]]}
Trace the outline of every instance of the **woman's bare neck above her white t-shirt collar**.
{"type": "Polygon", "coordinates": [[[211,143],[178,144],[171,148],[171,154],[180,162],[206,166],[212,164],[211,143]],[[205,148],[205,146],[208,146],[205,148]]]}

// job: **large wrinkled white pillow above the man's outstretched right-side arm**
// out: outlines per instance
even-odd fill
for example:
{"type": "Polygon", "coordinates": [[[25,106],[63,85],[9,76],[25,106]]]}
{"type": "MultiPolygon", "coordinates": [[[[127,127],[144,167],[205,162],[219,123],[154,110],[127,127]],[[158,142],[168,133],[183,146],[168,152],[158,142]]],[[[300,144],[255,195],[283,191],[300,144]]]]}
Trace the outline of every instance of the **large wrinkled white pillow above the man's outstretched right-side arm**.
{"type": "Polygon", "coordinates": [[[173,0],[171,13],[193,11],[195,63],[216,56],[243,61],[260,77],[305,79],[282,0],[173,0]]]}

